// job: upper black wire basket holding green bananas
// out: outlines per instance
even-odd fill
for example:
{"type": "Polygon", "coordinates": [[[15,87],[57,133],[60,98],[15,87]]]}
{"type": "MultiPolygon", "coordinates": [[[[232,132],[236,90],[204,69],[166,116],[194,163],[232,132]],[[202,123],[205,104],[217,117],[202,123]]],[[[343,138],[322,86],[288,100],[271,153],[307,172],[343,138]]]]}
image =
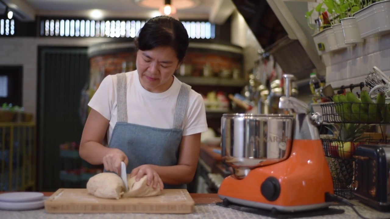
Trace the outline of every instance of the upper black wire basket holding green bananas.
{"type": "Polygon", "coordinates": [[[321,109],[327,123],[390,124],[390,104],[332,102],[321,109]]]}

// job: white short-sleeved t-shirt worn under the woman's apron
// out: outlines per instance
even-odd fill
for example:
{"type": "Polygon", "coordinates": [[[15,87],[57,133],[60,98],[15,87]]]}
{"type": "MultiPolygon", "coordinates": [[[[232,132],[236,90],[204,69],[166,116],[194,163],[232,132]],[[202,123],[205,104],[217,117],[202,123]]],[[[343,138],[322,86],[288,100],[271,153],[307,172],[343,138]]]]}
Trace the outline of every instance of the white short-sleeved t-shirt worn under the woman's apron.
{"type": "MultiPolygon", "coordinates": [[[[128,122],[156,128],[172,129],[177,96],[182,82],[174,76],[172,86],[163,93],[145,90],[137,70],[126,72],[128,122]]],[[[206,110],[202,95],[191,89],[183,122],[183,136],[207,131],[206,110]]],[[[103,79],[88,106],[110,120],[108,142],[117,122],[117,76],[103,79]]]]}

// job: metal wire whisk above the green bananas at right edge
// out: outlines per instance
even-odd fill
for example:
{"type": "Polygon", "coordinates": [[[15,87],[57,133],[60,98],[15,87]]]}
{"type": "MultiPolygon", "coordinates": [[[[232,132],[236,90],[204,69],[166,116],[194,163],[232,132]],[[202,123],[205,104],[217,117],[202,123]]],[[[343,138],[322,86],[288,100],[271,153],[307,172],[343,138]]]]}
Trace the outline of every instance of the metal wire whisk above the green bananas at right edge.
{"type": "Polygon", "coordinates": [[[390,92],[390,78],[386,76],[376,66],[373,67],[374,72],[370,72],[365,79],[364,85],[370,88],[369,95],[379,94],[380,92],[385,93],[387,96],[390,92]]]}

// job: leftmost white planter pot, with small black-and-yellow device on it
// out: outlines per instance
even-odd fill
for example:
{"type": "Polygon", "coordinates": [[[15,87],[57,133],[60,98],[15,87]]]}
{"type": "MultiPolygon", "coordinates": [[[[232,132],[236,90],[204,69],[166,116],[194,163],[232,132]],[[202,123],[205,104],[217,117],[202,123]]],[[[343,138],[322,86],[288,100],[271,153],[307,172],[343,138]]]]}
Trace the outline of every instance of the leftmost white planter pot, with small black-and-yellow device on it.
{"type": "Polygon", "coordinates": [[[316,44],[318,55],[339,49],[332,27],[325,28],[313,34],[312,37],[316,44]]]}

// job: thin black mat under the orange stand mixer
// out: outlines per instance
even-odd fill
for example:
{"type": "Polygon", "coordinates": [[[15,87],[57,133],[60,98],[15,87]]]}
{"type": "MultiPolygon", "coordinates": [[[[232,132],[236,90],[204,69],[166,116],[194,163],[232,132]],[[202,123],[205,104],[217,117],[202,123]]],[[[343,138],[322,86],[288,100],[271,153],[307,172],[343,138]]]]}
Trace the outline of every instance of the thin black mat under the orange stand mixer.
{"type": "Polygon", "coordinates": [[[323,216],[323,215],[343,214],[345,212],[343,209],[330,208],[327,206],[323,207],[323,208],[317,208],[315,210],[281,212],[281,211],[277,210],[276,208],[271,208],[269,210],[266,210],[264,208],[249,207],[249,206],[240,205],[237,203],[232,203],[232,202],[228,201],[226,198],[223,199],[223,202],[216,203],[216,205],[226,207],[226,208],[231,208],[234,210],[239,210],[241,212],[248,212],[251,214],[257,214],[257,215],[262,215],[262,216],[266,216],[266,217],[273,217],[276,219],[316,217],[316,216],[323,216]]]}

